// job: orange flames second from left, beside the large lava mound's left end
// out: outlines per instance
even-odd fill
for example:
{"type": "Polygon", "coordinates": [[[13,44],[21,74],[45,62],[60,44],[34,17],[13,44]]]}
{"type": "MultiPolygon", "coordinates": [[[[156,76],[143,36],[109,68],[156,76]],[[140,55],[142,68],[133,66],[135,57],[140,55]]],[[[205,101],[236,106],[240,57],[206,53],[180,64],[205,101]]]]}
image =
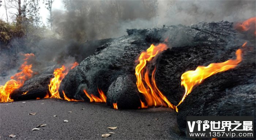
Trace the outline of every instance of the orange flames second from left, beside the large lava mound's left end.
{"type": "MultiPolygon", "coordinates": [[[[57,69],[54,70],[54,72],[53,72],[54,77],[50,80],[50,84],[48,85],[48,87],[49,87],[49,94],[47,94],[45,96],[45,98],[62,99],[60,97],[60,93],[59,93],[60,83],[64,79],[64,77],[68,74],[68,71],[70,69],[73,69],[77,65],[78,65],[78,63],[75,62],[73,64],[70,64],[67,68],[63,65],[61,68],[57,68],[57,69]]],[[[63,95],[64,95],[64,100],[67,100],[67,101],[78,101],[78,100],[74,100],[74,99],[69,99],[65,95],[64,91],[63,91],[63,95]]]]}

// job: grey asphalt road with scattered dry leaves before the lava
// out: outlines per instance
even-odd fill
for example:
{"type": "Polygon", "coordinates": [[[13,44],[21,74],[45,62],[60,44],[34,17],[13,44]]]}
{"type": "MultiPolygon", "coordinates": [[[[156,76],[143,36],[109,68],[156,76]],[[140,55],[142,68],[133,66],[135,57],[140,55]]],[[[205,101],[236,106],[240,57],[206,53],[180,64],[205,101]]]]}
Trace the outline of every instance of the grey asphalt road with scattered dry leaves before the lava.
{"type": "Polygon", "coordinates": [[[186,139],[179,134],[176,112],[169,108],[115,110],[106,104],[57,99],[23,102],[0,104],[1,140],[186,139]],[[32,131],[39,124],[47,125],[32,131]],[[101,137],[109,132],[114,134],[101,137]],[[10,134],[16,137],[8,137],[10,134]]]}

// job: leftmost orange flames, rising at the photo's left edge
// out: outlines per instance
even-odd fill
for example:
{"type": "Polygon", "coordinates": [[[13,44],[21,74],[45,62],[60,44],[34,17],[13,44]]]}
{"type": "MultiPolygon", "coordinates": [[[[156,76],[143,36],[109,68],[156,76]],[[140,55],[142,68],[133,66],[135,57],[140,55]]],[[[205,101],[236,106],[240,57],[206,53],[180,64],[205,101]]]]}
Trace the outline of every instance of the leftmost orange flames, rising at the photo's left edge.
{"type": "MultiPolygon", "coordinates": [[[[11,102],[14,101],[10,98],[11,93],[20,88],[24,82],[33,76],[32,64],[27,64],[27,60],[31,57],[35,57],[33,53],[22,54],[25,56],[24,63],[20,66],[20,72],[11,76],[11,80],[7,81],[4,85],[0,85],[0,102],[11,102]]],[[[23,93],[25,95],[27,92],[23,93]]]]}

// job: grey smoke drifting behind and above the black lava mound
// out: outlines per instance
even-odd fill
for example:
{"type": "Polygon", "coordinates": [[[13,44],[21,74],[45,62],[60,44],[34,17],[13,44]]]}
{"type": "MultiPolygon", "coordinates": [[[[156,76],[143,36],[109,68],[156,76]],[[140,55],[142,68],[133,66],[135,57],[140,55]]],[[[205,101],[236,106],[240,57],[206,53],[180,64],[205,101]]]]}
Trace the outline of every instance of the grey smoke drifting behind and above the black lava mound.
{"type": "Polygon", "coordinates": [[[127,35],[126,29],[190,25],[200,21],[242,21],[256,16],[256,1],[244,0],[64,0],[64,4],[65,11],[53,11],[54,37],[46,34],[46,39],[36,41],[31,48],[23,45],[26,39],[15,39],[9,51],[1,51],[0,76],[12,75],[12,69],[21,64],[17,56],[10,55],[15,51],[34,53],[37,60],[33,67],[40,71],[54,64],[80,63],[101,45],[88,40],[127,35]],[[11,61],[12,65],[5,63],[10,60],[16,61],[11,61]]]}

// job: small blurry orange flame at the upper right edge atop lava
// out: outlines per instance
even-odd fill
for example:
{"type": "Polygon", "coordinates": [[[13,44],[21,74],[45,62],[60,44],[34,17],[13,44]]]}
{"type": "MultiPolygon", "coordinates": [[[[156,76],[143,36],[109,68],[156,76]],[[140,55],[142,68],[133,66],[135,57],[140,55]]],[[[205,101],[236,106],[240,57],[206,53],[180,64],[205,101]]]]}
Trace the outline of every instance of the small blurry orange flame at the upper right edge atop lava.
{"type": "MultiPolygon", "coordinates": [[[[252,17],[248,20],[245,20],[242,23],[237,23],[234,26],[235,29],[238,31],[248,31],[248,30],[255,30],[256,29],[256,17],[252,17]]],[[[254,32],[256,35],[256,31],[254,32]]]]}

